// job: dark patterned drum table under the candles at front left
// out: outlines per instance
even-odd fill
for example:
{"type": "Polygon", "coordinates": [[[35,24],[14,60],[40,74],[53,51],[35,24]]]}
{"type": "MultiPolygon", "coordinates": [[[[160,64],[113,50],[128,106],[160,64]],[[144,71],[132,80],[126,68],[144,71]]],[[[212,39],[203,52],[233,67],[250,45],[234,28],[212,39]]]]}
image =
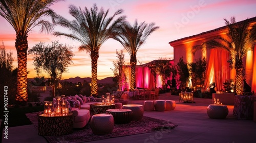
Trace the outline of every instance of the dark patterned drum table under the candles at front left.
{"type": "Polygon", "coordinates": [[[59,136],[73,132],[73,114],[63,116],[38,116],[38,135],[59,136]]]}

